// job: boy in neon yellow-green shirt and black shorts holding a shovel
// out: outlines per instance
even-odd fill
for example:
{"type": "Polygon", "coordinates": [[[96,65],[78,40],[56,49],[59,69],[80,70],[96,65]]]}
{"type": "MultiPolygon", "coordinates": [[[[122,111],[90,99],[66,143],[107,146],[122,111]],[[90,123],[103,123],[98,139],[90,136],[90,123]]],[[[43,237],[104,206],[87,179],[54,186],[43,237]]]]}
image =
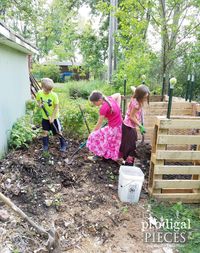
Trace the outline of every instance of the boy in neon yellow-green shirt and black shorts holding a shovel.
{"type": "MultiPolygon", "coordinates": [[[[53,127],[54,124],[58,130],[59,134],[61,132],[61,124],[58,119],[59,117],[59,101],[58,96],[55,92],[52,91],[54,87],[53,80],[50,78],[43,78],[41,80],[42,89],[36,94],[36,100],[40,106],[44,106],[47,111],[48,116],[42,110],[42,129],[43,129],[43,150],[47,151],[49,146],[49,136],[48,132],[52,130],[53,135],[55,135],[56,129],[53,127]]],[[[60,151],[64,152],[67,148],[67,143],[63,138],[60,139],[60,151]]]]}

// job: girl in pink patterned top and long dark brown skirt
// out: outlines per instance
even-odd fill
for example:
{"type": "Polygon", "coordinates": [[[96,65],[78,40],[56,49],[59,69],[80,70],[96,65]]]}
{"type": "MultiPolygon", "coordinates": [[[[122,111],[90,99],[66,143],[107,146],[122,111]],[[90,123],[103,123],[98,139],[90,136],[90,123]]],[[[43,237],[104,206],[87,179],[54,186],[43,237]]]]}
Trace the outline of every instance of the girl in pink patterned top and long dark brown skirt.
{"type": "Polygon", "coordinates": [[[142,107],[146,100],[149,103],[150,94],[149,88],[146,85],[139,85],[137,88],[131,88],[134,94],[129,103],[122,125],[122,143],[120,147],[121,156],[125,160],[125,164],[130,166],[134,164],[134,159],[136,156],[136,127],[139,127],[141,134],[145,133],[142,120],[142,107]]]}

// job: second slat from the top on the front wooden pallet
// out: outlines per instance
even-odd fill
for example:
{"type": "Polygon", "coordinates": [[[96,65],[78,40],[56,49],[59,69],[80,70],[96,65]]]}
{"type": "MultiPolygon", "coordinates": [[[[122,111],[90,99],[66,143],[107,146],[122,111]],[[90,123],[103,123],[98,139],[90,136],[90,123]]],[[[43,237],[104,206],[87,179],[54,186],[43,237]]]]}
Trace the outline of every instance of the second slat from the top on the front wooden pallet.
{"type": "Polygon", "coordinates": [[[159,135],[158,144],[200,144],[200,135],[159,135]]]}

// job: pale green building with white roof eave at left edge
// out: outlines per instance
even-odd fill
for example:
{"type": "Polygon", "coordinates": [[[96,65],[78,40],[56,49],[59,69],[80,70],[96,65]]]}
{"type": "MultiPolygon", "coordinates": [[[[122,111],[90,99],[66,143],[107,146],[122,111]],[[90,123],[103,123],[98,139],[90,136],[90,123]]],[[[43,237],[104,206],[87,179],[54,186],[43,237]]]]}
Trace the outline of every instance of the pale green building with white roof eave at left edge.
{"type": "Polygon", "coordinates": [[[29,56],[37,49],[0,22],[0,155],[13,123],[30,99],[29,56]]]}

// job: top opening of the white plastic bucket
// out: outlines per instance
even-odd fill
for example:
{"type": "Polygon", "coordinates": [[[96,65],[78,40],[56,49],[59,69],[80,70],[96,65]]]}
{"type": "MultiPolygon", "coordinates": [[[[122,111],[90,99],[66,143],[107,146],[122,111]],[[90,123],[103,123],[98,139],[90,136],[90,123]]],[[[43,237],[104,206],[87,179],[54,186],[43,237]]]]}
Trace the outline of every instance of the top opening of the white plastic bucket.
{"type": "Polygon", "coordinates": [[[136,166],[120,166],[119,173],[126,178],[144,180],[144,173],[136,166]]]}

